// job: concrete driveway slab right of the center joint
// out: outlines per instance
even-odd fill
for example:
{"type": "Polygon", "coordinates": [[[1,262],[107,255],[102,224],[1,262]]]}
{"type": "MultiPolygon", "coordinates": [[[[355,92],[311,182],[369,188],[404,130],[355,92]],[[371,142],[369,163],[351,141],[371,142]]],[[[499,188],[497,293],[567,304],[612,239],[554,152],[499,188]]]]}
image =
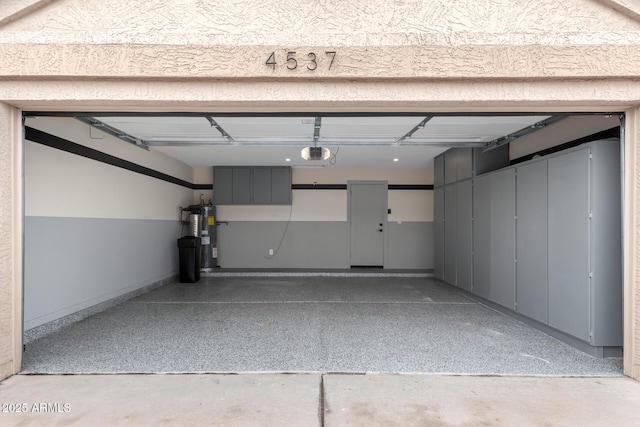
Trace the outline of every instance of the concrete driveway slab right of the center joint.
{"type": "Polygon", "coordinates": [[[325,375],[325,426],[640,426],[628,378],[325,375]]]}

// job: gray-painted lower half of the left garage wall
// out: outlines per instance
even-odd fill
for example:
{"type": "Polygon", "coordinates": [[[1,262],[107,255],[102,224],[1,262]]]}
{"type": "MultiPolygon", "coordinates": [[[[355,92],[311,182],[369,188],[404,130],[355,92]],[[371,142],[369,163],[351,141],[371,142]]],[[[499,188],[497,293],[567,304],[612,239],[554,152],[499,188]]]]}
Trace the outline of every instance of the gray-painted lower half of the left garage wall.
{"type": "Polygon", "coordinates": [[[24,328],[175,276],[177,221],[25,218],[24,328]]]}

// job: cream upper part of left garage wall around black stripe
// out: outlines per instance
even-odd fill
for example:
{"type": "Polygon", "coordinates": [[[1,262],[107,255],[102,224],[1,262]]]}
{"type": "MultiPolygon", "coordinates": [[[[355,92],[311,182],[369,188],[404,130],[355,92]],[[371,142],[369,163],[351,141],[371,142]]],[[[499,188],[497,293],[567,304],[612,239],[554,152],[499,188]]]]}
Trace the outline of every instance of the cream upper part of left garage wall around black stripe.
{"type": "MultiPolygon", "coordinates": [[[[28,126],[192,182],[190,167],[147,152],[74,119],[29,119],[28,126]]],[[[189,188],[25,141],[25,215],[178,220],[189,188]]]]}

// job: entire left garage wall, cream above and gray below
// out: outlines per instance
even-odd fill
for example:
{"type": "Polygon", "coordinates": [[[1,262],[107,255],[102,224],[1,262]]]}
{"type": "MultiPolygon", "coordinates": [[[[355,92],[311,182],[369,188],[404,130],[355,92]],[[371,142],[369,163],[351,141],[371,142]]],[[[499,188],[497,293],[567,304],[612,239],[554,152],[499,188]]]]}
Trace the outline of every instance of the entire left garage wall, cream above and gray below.
{"type": "Polygon", "coordinates": [[[27,126],[186,184],[25,141],[24,329],[175,277],[192,168],[74,119],[27,126]]]}

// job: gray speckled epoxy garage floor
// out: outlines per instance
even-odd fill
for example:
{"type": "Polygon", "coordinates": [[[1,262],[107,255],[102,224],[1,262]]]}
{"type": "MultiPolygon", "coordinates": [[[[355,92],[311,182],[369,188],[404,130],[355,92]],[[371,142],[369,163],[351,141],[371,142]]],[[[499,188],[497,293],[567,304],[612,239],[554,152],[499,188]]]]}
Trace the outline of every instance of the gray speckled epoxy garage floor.
{"type": "Polygon", "coordinates": [[[393,372],[620,376],[419,277],[170,284],[26,347],[24,373],[393,372]]]}

